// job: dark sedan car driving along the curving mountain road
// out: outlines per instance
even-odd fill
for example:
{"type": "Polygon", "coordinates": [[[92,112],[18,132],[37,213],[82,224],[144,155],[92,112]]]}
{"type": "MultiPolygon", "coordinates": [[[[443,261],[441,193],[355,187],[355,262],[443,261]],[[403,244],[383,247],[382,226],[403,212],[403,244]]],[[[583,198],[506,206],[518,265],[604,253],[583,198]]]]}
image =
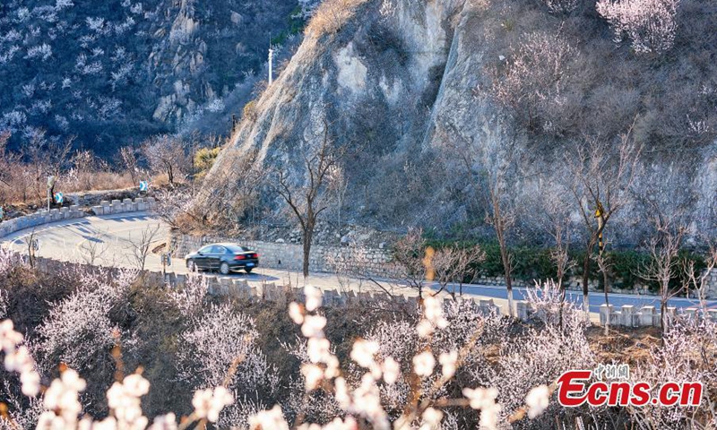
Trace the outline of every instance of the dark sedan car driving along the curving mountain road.
{"type": "Polygon", "coordinates": [[[212,244],[187,254],[185,261],[189,271],[220,271],[222,275],[238,270],[251,273],[259,265],[259,254],[237,244],[212,244]]]}

